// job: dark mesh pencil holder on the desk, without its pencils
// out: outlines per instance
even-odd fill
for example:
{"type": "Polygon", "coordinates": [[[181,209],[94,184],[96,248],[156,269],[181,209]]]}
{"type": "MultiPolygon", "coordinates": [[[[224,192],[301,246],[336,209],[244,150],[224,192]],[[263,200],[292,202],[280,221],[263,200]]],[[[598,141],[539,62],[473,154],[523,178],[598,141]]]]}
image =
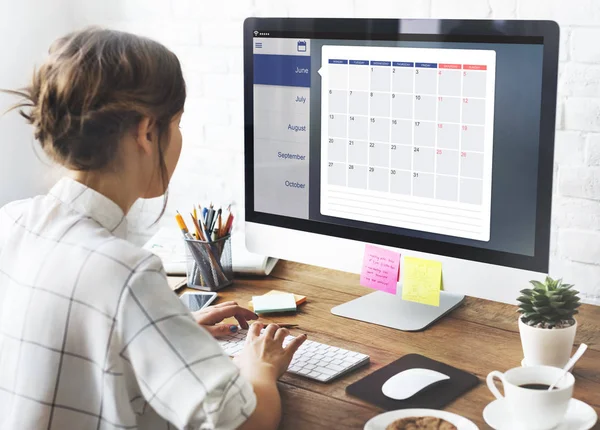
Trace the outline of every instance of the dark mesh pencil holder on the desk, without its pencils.
{"type": "Polygon", "coordinates": [[[184,240],[188,287],[217,291],[233,283],[231,235],[213,242],[184,240]]]}

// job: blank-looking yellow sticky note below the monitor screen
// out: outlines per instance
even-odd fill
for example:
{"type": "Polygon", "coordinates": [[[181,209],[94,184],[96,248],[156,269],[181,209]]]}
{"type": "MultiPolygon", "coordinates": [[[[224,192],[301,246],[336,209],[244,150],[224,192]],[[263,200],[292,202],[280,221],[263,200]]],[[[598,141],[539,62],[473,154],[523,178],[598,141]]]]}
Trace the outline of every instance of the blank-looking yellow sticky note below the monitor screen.
{"type": "Polygon", "coordinates": [[[422,258],[404,257],[402,299],[425,305],[440,305],[442,263],[422,258]]]}

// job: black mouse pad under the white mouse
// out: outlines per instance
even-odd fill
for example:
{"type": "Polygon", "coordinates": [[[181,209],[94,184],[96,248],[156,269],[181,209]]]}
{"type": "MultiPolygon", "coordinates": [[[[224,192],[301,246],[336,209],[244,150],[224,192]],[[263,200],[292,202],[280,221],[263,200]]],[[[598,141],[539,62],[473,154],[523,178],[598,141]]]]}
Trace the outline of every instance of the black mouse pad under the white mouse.
{"type": "Polygon", "coordinates": [[[349,385],[346,392],[387,410],[442,409],[477,384],[479,379],[475,375],[419,354],[408,354],[349,385]],[[406,400],[394,400],[383,394],[381,387],[388,379],[403,370],[414,368],[436,370],[450,379],[433,384],[406,400]]]}

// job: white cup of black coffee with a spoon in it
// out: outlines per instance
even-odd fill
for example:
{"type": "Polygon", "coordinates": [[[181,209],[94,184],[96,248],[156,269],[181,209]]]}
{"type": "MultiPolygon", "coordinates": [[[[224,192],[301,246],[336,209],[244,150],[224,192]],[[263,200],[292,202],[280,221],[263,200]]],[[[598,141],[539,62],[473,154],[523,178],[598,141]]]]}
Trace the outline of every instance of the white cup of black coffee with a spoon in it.
{"type": "Polygon", "coordinates": [[[522,388],[524,384],[552,385],[562,370],[550,366],[515,367],[505,373],[494,370],[487,376],[487,385],[498,400],[503,400],[514,427],[527,430],[549,430],[561,423],[573,395],[575,378],[567,373],[552,391],[522,388]],[[504,396],[494,383],[500,379],[504,396]]]}

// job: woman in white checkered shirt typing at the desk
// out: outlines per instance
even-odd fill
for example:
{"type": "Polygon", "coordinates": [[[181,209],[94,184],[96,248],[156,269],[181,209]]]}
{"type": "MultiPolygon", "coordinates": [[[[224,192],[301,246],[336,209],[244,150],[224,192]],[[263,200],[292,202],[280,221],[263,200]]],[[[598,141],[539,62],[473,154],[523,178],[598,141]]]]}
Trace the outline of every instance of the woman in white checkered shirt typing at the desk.
{"type": "Polygon", "coordinates": [[[68,176],[0,210],[0,428],[276,428],[276,381],[306,336],[284,348],[287,330],[255,323],[230,360],[212,335],[256,315],[233,302],[191,315],[160,260],[124,240],[133,203],[165,194],[177,165],[177,57],[87,29],[13,94],[68,176]]]}

